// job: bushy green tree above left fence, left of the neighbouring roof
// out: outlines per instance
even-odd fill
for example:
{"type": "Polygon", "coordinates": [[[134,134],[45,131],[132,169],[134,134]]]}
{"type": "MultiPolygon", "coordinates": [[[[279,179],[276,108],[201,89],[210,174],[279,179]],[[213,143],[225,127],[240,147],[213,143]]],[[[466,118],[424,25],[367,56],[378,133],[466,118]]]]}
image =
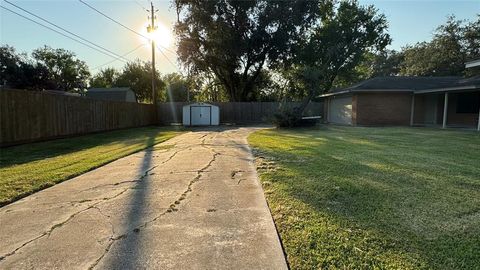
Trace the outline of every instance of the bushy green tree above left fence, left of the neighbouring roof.
{"type": "Polygon", "coordinates": [[[86,89],[90,72],[87,64],[73,52],[44,46],[34,50],[32,56],[37,67],[48,71],[46,80],[52,90],[81,92],[86,89]]]}

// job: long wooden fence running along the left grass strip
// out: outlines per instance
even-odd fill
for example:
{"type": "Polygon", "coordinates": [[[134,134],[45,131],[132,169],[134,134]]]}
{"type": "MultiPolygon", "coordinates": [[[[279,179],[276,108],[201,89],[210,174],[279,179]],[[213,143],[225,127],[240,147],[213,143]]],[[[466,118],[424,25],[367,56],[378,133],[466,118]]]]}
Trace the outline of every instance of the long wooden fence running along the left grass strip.
{"type": "Polygon", "coordinates": [[[156,123],[153,105],[0,90],[0,145],[156,123]]]}

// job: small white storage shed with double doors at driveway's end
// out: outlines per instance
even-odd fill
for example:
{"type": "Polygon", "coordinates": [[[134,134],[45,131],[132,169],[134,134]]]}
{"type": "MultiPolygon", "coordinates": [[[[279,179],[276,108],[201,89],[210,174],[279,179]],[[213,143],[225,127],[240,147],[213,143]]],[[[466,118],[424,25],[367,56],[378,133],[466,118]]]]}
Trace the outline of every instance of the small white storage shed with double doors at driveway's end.
{"type": "Polygon", "coordinates": [[[183,106],[184,126],[218,126],[220,111],[218,106],[207,103],[193,103],[183,106]]]}

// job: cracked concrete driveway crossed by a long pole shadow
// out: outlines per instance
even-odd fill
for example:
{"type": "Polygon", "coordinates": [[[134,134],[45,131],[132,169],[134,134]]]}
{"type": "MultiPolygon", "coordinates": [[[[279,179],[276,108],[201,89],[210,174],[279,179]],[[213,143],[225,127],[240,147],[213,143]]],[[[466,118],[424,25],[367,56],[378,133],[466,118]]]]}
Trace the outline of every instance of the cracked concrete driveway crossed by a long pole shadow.
{"type": "Polygon", "coordinates": [[[253,130],[189,132],[0,208],[0,269],[286,269],[253,130]]]}

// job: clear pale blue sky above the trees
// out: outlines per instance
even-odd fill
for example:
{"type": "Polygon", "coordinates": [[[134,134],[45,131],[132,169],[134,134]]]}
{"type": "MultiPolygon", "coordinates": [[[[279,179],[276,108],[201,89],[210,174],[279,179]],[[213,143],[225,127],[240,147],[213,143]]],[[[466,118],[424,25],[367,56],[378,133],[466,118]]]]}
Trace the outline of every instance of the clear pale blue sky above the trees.
{"type": "MultiPolygon", "coordinates": [[[[0,1],[2,6],[18,11],[3,0],[0,1]]],[[[144,43],[139,36],[95,13],[77,0],[10,1],[120,55],[144,43]]],[[[85,0],[85,2],[138,31],[144,28],[147,21],[147,12],[141,6],[148,7],[150,4],[146,0],[85,0]]],[[[433,30],[444,23],[450,14],[455,15],[458,19],[474,20],[476,14],[480,13],[480,1],[474,0],[361,0],[360,3],[372,4],[387,16],[390,25],[389,32],[393,38],[390,48],[397,50],[407,44],[430,40],[433,30]]],[[[154,1],[154,4],[159,9],[157,21],[171,30],[176,20],[176,13],[171,7],[171,3],[157,0],[154,1]]],[[[18,12],[25,14],[22,11],[18,12]]],[[[3,9],[0,9],[0,16],[1,43],[14,46],[19,51],[30,53],[33,49],[43,45],[65,48],[75,52],[80,59],[87,62],[90,68],[112,60],[109,56],[100,54],[3,9]]],[[[172,42],[168,48],[175,51],[174,43],[172,42]]],[[[176,63],[174,54],[168,51],[164,51],[164,53],[172,62],[176,63]]],[[[149,60],[150,48],[143,46],[126,58],[149,60]]],[[[121,68],[123,63],[117,61],[107,66],[121,68]]],[[[176,70],[160,52],[157,52],[157,67],[162,73],[176,70]]]]}

